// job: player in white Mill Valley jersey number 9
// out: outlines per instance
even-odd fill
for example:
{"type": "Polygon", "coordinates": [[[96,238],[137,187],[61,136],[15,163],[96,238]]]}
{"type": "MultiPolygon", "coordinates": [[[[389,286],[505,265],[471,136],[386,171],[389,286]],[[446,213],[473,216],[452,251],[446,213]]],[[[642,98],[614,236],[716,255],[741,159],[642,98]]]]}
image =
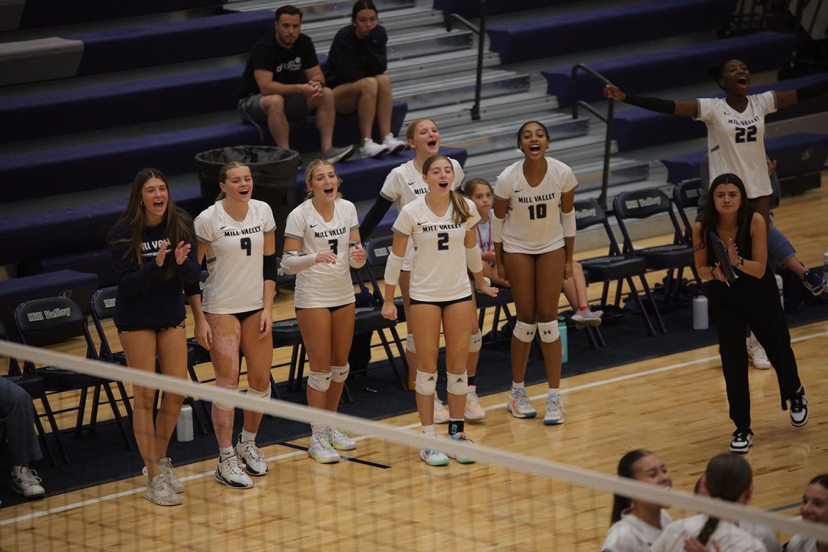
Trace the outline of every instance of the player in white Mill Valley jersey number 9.
{"type": "MultiPolygon", "coordinates": [[[[216,385],[238,388],[241,347],[248,367],[248,395],[270,398],[273,358],[272,313],[276,292],[276,223],[270,206],[250,199],[253,177],[238,162],[222,167],[221,194],[195,218],[198,258],[207,257],[204,298],[190,301],[195,338],[209,349],[216,385]]],[[[213,403],[213,427],[219,441],[215,478],[231,488],[253,487],[251,475],[267,473],[256,447],[262,413],[244,411],[244,426],[233,449],[233,406],[213,403]]]]}

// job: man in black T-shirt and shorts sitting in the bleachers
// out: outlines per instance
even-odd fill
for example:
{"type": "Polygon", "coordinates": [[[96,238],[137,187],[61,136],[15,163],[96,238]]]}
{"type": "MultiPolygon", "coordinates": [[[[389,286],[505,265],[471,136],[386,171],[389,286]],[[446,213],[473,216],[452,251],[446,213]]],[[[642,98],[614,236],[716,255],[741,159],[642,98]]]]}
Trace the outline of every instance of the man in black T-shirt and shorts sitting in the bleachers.
{"type": "Polygon", "coordinates": [[[238,113],[243,121],[267,124],[277,146],[290,148],[288,120],[316,115],[322,157],[334,163],[354,153],[354,146],[333,146],[334,93],[310,36],[301,33],[302,12],[295,6],[276,11],[276,32],[263,36],[250,53],[239,87],[238,113]],[[307,78],[303,83],[302,74],[307,78]]]}

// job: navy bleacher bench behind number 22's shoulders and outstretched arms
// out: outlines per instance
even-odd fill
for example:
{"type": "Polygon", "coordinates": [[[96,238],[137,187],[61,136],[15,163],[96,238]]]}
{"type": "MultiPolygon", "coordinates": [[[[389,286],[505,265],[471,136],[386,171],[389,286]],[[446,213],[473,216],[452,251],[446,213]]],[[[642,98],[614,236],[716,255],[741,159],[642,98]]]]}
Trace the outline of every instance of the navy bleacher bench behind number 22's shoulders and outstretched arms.
{"type": "MultiPolygon", "coordinates": [[[[767,90],[791,90],[808,84],[828,80],[828,73],[814,74],[799,79],[783,80],[779,83],[754,86],[751,94],[761,94],[767,90]]],[[[724,94],[716,94],[723,98],[724,94]]],[[[779,121],[819,113],[828,110],[826,98],[813,98],[804,103],[785,108],[765,118],[768,122],[779,121]]],[[[705,136],[707,129],[703,122],[687,117],[676,117],[664,113],[654,113],[647,109],[628,109],[615,114],[613,138],[618,142],[619,151],[634,150],[639,147],[655,146],[666,142],[690,140],[705,136]]]]}

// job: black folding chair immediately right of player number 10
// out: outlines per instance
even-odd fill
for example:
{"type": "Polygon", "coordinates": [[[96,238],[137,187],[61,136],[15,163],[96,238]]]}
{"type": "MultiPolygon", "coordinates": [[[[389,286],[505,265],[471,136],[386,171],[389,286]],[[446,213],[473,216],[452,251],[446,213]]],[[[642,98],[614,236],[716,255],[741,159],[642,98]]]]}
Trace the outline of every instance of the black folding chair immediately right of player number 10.
{"type": "MultiPolygon", "coordinates": [[[[581,259],[579,262],[584,266],[585,273],[588,275],[590,282],[604,282],[604,290],[601,292],[601,305],[609,305],[607,300],[609,298],[609,285],[615,282],[615,300],[614,306],[616,310],[620,308],[621,291],[623,282],[627,282],[630,291],[632,291],[633,299],[641,311],[644,324],[647,326],[647,333],[655,335],[656,332],[652,329],[652,322],[650,316],[647,314],[641,297],[638,295],[633,278],[638,277],[641,282],[642,289],[647,295],[647,300],[652,305],[652,310],[656,316],[657,322],[663,333],[667,333],[664,328],[661,314],[658,312],[658,305],[652,300],[652,293],[650,286],[647,285],[647,279],[644,273],[647,271],[647,262],[642,257],[636,257],[631,254],[622,253],[618,242],[615,241],[615,235],[612,228],[609,228],[609,220],[604,209],[601,209],[600,204],[595,199],[578,199],[575,201],[575,223],[576,228],[585,230],[592,226],[601,225],[604,232],[609,239],[609,251],[603,257],[592,257],[589,259],[581,259]]],[[[605,317],[607,317],[605,315],[605,317]]],[[[609,317],[607,317],[609,318],[609,317]]],[[[603,338],[601,338],[603,342],[603,338]]]]}

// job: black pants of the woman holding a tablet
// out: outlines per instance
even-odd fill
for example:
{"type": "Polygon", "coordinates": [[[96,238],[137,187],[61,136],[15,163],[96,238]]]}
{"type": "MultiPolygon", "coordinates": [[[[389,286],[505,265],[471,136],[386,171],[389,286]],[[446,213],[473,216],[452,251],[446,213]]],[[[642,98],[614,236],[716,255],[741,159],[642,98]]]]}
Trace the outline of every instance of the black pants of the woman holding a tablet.
{"type": "Polygon", "coordinates": [[[746,324],[765,348],[776,371],[782,410],[787,410],[787,401],[796,395],[801,385],[785,314],[779,304],[776,285],[773,280],[770,282],[768,286],[767,280],[763,279],[760,286],[749,286],[753,288],[751,290],[724,289],[721,282],[713,282],[714,286],[722,287],[710,294],[710,315],[719,336],[730,420],[737,428],[750,427],[748,351],[744,341],[746,324]],[[747,291],[753,293],[745,293],[747,291]]]}

